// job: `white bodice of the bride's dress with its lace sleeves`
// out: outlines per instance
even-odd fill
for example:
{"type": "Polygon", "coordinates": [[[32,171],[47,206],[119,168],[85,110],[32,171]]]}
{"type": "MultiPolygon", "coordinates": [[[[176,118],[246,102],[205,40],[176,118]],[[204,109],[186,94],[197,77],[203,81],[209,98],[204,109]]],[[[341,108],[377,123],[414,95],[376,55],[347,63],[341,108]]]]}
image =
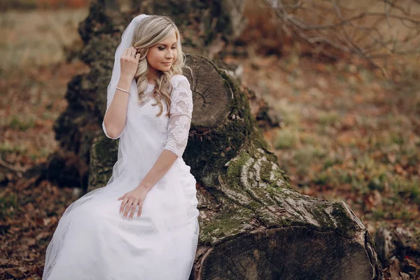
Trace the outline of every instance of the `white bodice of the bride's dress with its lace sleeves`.
{"type": "MultiPolygon", "coordinates": [[[[185,76],[176,75],[171,79],[170,116],[167,106],[160,106],[153,97],[154,85],[148,84],[144,99],[130,93],[127,104],[127,118],[123,132],[120,134],[118,160],[124,159],[124,168],[148,171],[163,150],[169,150],[178,156],[176,162],[183,162],[182,155],[188,141],[190,123],[193,114],[193,97],[190,83],[185,76]],[[156,104],[156,105],[154,105],[156,104]]],[[[108,106],[111,102],[108,102],[108,106]]],[[[102,125],[106,134],[106,127],[102,125]]],[[[108,135],[107,135],[108,136],[108,135]]],[[[111,137],[110,137],[111,138],[111,137]]],[[[119,138],[119,137],[117,137],[119,138]]]]}

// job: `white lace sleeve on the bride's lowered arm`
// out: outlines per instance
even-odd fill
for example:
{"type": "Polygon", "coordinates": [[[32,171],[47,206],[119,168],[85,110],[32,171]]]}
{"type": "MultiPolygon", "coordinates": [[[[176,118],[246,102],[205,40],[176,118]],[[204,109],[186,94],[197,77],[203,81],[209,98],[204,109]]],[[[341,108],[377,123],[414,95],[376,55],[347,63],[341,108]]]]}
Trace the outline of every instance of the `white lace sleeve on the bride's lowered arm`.
{"type": "Polygon", "coordinates": [[[168,122],[168,140],[165,150],[172,151],[182,157],[187,146],[193,114],[193,94],[190,83],[185,76],[177,76],[172,85],[171,116],[168,122]]]}

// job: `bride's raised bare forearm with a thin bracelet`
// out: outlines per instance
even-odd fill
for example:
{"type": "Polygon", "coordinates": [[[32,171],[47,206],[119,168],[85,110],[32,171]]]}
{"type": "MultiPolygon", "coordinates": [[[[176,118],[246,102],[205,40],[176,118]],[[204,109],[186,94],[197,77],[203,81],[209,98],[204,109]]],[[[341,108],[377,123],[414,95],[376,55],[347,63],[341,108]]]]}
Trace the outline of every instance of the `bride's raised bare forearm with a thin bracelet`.
{"type": "MultiPolygon", "coordinates": [[[[117,87],[123,90],[130,91],[131,80],[120,78],[117,87]]],[[[110,137],[118,137],[123,132],[125,121],[127,118],[127,104],[128,97],[130,95],[127,92],[116,90],[109,109],[106,111],[104,116],[104,125],[106,127],[106,133],[110,137]]]]}

